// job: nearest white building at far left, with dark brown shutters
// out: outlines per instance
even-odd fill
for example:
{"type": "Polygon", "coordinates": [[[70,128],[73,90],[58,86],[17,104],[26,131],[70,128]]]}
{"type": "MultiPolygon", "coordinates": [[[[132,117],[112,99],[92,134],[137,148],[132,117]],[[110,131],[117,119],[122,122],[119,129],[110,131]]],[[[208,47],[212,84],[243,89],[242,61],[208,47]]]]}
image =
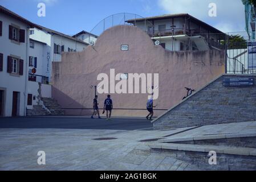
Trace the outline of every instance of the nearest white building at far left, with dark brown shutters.
{"type": "Polygon", "coordinates": [[[0,6],[0,116],[26,114],[29,28],[35,26],[0,6]]]}

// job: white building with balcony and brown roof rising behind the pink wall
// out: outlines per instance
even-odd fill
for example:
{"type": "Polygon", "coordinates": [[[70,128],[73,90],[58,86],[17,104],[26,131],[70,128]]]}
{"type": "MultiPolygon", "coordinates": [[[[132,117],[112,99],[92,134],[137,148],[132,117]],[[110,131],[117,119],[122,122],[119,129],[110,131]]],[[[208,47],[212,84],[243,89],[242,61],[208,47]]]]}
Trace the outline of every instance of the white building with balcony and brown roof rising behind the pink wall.
{"type": "Polygon", "coordinates": [[[189,14],[167,14],[127,20],[169,51],[223,49],[225,34],[189,14]]]}

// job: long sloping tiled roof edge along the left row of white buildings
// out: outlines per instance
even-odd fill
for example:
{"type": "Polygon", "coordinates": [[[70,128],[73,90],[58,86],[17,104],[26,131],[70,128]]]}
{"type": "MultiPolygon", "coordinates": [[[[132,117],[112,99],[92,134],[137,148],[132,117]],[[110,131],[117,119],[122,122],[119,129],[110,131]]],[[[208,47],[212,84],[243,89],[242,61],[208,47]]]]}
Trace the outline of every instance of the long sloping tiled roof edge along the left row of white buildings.
{"type": "Polygon", "coordinates": [[[10,10],[6,9],[5,7],[3,7],[1,5],[0,5],[0,13],[6,14],[6,15],[9,15],[9,16],[15,18],[15,19],[18,19],[21,22],[28,24],[31,28],[38,28],[39,30],[44,30],[44,31],[50,32],[52,34],[63,36],[65,38],[67,38],[67,39],[75,40],[76,42],[80,42],[82,44],[89,45],[88,43],[83,42],[82,40],[78,40],[76,38],[73,38],[72,36],[69,36],[69,35],[66,35],[66,34],[62,34],[62,33],[58,32],[58,31],[51,30],[50,28],[46,28],[46,27],[40,26],[38,24],[32,23],[29,20],[27,20],[27,19],[23,18],[22,16],[14,13],[13,11],[10,11],[10,10]]]}

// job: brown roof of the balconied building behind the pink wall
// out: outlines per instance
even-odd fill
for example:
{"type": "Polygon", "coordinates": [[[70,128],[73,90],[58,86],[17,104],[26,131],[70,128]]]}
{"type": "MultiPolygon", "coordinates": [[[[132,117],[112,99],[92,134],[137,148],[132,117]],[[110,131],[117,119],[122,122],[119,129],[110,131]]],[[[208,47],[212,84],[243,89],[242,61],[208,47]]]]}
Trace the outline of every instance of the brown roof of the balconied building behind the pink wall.
{"type": "Polygon", "coordinates": [[[213,26],[210,26],[209,24],[207,24],[205,22],[202,22],[201,20],[195,18],[194,16],[186,14],[186,13],[149,16],[149,17],[146,17],[146,18],[129,19],[126,22],[127,23],[133,23],[133,22],[135,22],[135,20],[136,20],[136,22],[141,22],[143,20],[157,20],[157,19],[182,18],[182,17],[190,18],[190,19],[194,20],[194,22],[200,23],[200,24],[202,24],[202,26],[208,27],[209,29],[211,29],[212,31],[214,31],[218,34],[225,34],[224,32],[218,30],[217,28],[214,28],[213,26]]]}

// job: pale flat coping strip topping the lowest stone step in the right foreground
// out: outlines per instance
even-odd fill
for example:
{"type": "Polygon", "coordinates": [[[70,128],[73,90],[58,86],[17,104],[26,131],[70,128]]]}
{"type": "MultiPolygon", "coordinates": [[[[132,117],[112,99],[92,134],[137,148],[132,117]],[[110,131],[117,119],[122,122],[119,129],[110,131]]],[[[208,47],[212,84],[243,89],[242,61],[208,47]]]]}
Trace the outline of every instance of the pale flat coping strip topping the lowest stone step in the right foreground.
{"type": "Polygon", "coordinates": [[[229,154],[229,155],[245,155],[256,156],[255,148],[247,147],[227,147],[227,146],[210,146],[210,145],[198,145],[198,144],[150,144],[150,148],[159,150],[178,150],[178,151],[193,151],[193,152],[210,152],[216,151],[217,154],[229,154]]]}

